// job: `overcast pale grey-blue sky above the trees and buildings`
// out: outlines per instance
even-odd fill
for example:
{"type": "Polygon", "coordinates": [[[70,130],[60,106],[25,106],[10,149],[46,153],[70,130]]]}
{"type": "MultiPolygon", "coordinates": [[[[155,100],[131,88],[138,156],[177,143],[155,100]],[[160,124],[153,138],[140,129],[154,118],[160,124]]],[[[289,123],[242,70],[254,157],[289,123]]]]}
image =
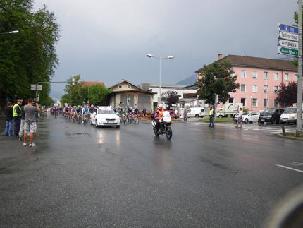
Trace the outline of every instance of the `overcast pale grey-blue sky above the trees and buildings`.
{"type": "MultiPolygon", "coordinates": [[[[283,58],[277,23],[292,25],[297,0],[34,0],[61,25],[53,81],[80,74],[107,87],[125,79],[135,85],[175,84],[218,54],[283,58]]],[[[64,84],[51,85],[51,97],[64,84]]]]}

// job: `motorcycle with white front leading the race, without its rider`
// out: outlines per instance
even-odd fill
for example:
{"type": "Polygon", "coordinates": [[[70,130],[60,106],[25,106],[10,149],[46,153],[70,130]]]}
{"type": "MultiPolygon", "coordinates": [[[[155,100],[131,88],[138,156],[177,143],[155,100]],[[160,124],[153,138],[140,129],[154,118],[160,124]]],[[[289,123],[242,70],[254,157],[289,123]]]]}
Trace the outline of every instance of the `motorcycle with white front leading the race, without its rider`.
{"type": "Polygon", "coordinates": [[[155,136],[159,136],[159,135],[166,135],[166,138],[168,140],[171,139],[171,136],[173,136],[173,131],[171,130],[171,115],[169,112],[163,112],[163,117],[161,119],[159,119],[159,128],[156,128],[156,121],[152,120],[152,126],[153,126],[153,130],[154,130],[154,134],[155,136]]]}

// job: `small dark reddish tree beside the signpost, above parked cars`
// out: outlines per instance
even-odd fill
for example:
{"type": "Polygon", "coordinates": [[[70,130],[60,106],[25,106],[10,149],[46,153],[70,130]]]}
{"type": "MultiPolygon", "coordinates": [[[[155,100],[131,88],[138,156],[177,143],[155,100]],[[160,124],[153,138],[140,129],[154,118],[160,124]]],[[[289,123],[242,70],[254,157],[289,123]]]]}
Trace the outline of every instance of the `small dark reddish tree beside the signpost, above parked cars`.
{"type": "Polygon", "coordinates": [[[290,107],[292,104],[297,103],[297,88],[298,85],[295,82],[290,82],[288,85],[285,85],[284,82],[280,83],[278,102],[284,107],[290,107]]]}

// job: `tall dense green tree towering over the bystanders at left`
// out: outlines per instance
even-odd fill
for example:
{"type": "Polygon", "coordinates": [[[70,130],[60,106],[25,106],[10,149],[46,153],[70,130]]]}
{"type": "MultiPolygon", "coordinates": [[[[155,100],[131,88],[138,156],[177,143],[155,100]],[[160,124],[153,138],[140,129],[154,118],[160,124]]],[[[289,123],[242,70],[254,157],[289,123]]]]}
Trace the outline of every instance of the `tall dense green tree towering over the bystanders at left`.
{"type": "MultiPolygon", "coordinates": [[[[35,97],[30,84],[49,81],[58,64],[55,44],[59,25],[46,6],[34,11],[32,0],[0,1],[0,106],[6,98],[35,97]]],[[[50,85],[39,92],[40,103],[49,102],[50,85]]]]}

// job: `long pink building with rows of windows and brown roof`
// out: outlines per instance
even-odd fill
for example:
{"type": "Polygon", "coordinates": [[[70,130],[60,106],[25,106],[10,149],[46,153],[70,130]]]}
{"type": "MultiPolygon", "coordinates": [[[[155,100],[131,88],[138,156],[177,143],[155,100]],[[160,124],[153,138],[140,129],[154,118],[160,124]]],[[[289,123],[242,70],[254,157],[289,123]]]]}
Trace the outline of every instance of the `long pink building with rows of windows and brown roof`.
{"type": "MultiPolygon", "coordinates": [[[[229,103],[242,103],[252,111],[279,107],[277,90],[282,82],[297,81],[297,67],[291,61],[249,56],[228,55],[218,61],[229,61],[237,76],[240,88],[230,93],[229,103]]],[[[197,78],[199,70],[196,71],[197,78]]]]}

